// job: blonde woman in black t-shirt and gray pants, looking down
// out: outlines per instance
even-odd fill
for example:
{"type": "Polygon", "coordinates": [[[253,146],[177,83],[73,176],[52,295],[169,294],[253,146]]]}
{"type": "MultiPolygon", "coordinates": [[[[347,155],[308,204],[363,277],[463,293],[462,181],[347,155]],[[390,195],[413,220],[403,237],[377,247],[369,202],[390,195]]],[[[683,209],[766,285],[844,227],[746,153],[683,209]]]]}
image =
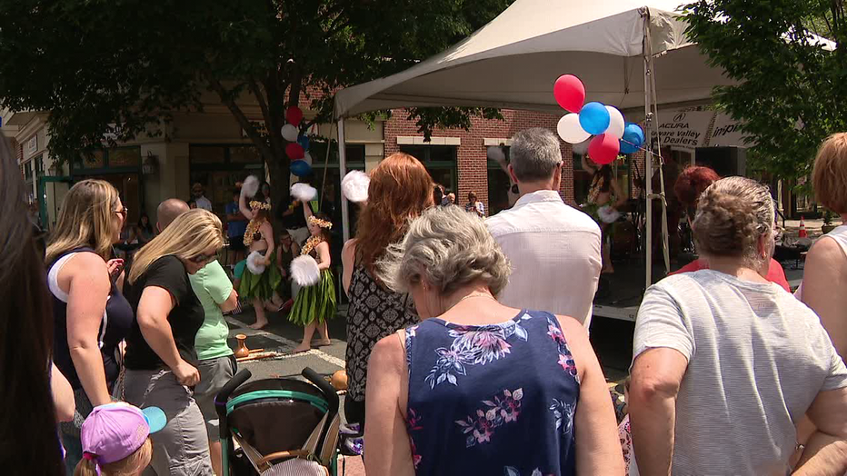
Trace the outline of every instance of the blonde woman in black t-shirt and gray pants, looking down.
{"type": "Polygon", "coordinates": [[[192,391],[200,382],[194,336],[203,305],[189,274],[211,263],[224,246],[221,221],[203,209],[182,213],[135,254],[126,297],[137,318],[126,347],[124,398],[156,406],[167,425],[151,436],[160,475],[212,475],[203,415],[192,391]]]}

